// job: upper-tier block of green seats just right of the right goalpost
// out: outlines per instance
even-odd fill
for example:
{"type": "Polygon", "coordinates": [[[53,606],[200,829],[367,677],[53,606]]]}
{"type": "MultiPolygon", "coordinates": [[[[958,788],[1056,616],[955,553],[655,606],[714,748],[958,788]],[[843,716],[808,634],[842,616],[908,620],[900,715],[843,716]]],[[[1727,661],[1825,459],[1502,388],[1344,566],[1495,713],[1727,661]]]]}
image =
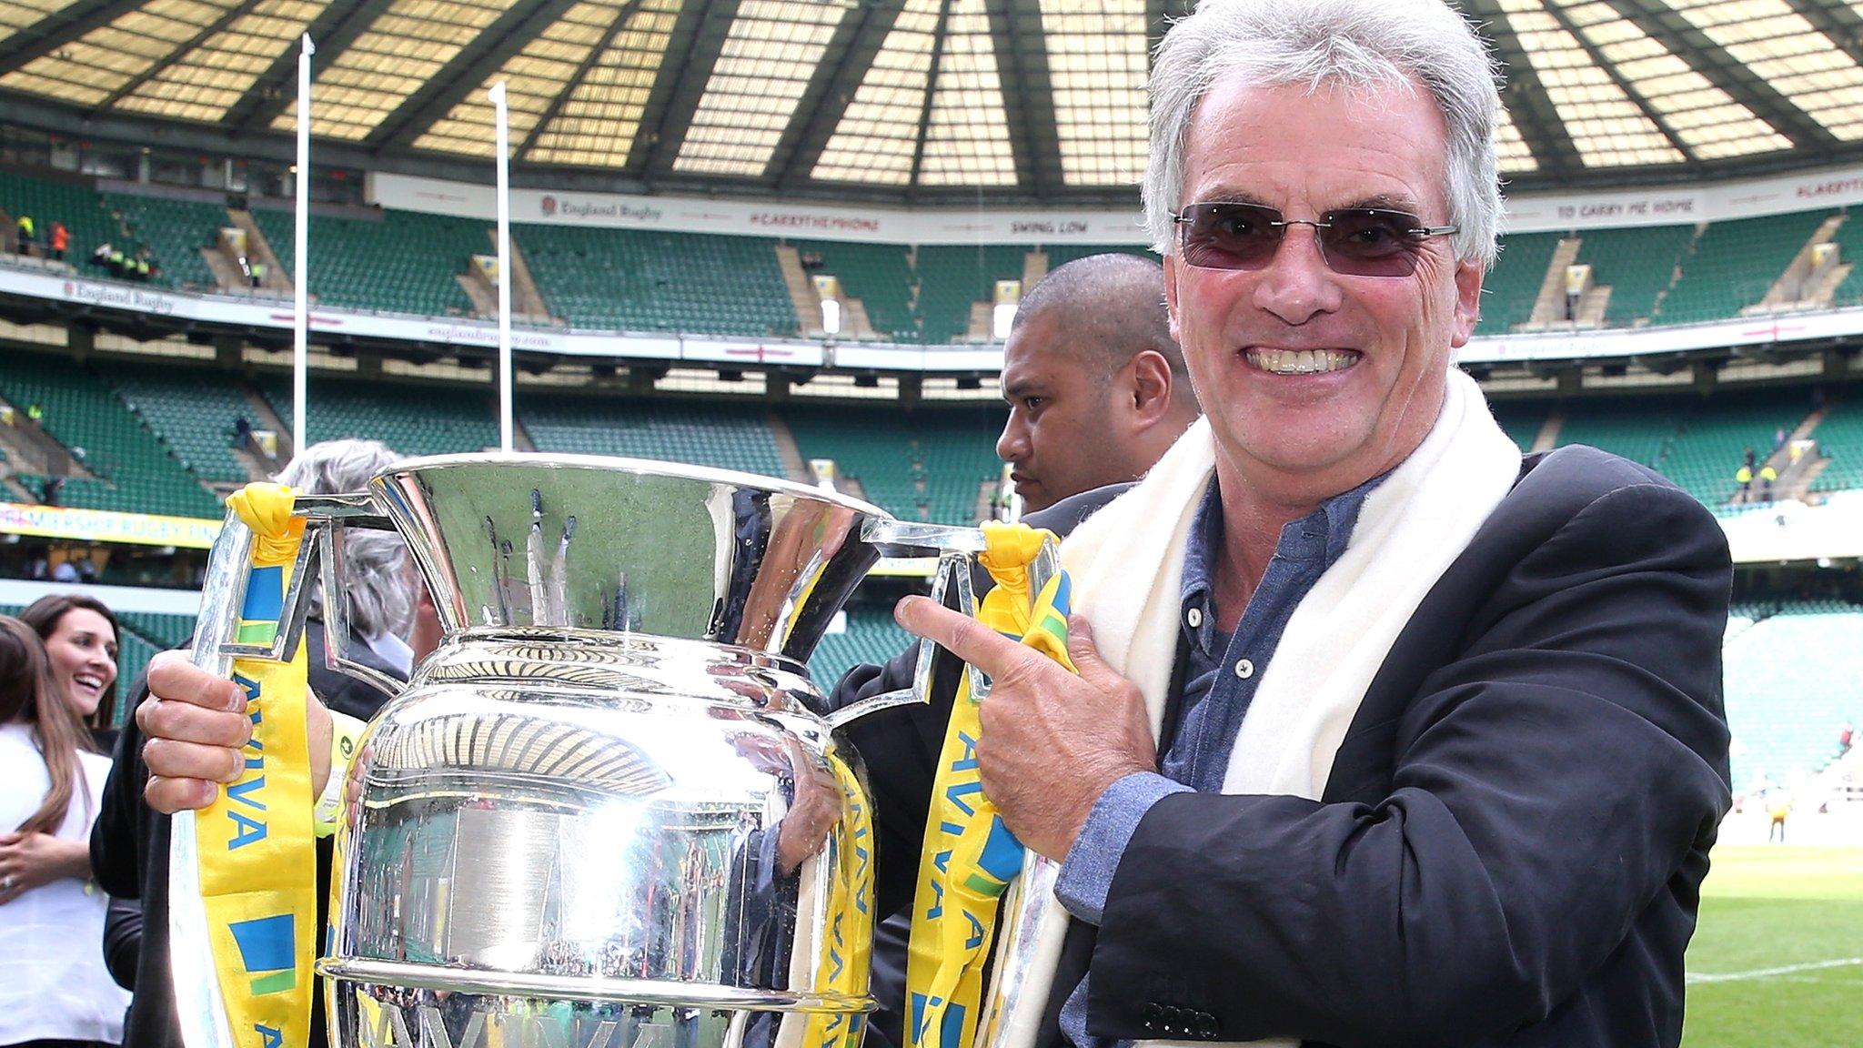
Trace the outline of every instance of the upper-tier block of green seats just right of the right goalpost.
{"type": "Polygon", "coordinates": [[[544,302],[570,326],[796,334],[796,306],[768,237],[524,224],[512,239],[544,302]]]}

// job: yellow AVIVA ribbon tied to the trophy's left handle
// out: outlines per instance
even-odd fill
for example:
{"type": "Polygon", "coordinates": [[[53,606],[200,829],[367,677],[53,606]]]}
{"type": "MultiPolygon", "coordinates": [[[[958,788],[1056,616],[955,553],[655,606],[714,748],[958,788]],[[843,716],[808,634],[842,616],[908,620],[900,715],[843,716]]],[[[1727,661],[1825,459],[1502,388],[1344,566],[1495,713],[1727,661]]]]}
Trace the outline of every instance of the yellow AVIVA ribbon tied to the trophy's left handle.
{"type": "MultiPolygon", "coordinates": [[[[281,485],[246,485],[227,498],[253,531],[237,628],[242,643],[270,643],[283,628],[283,597],[304,543],[292,500],[281,485]]],[[[252,718],[246,768],[196,819],[214,970],[237,1044],[302,1048],[311,1035],[311,957],[320,931],[304,645],[289,662],[235,658],[233,681],[252,718]]]]}

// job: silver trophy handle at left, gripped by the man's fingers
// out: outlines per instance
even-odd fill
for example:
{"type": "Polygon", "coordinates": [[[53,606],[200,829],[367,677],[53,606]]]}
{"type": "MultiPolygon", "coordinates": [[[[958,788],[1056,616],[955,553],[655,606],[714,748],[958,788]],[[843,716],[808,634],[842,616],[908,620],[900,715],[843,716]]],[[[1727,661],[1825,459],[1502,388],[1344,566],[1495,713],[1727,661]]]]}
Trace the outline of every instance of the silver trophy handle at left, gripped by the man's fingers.
{"type": "MultiPolygon", "coordinates": [[[[207,556],[207,580],[201,586],[201,610],[194,632],[194,666],[216,677],[233,671],[233,658],[268,658],[283,662],[304,640],[304,621],[309,612],[309,567],[313,556],[320,561],[324,600],[324,660],[330,669],[369,681],[393,694],[401,683],[393,677],[343,658],[343,640],[348,638],[348,606],[341,600],[341,531],[345,526],[393,530],[369,494],[300,496],[292,515],[306,518],[304,543],[292,567],[291,586],[283,595],[283,617],[270,643],[238,643],[238,615],[246,602],[246,580],[252,571],[253,533],[227,511],[207,556]],[[341,632],[337,632],[341,630],[341,632]]],[[[207,903],[201,895],[201,867],[196,848],[196,813],[179,811],[170,826],[168,847],[168,932],[170,960],[175,973],[175,1020],[183,1044],[188,1048],[237,1048],[225,1000],[209,938],[207,903]]]]}

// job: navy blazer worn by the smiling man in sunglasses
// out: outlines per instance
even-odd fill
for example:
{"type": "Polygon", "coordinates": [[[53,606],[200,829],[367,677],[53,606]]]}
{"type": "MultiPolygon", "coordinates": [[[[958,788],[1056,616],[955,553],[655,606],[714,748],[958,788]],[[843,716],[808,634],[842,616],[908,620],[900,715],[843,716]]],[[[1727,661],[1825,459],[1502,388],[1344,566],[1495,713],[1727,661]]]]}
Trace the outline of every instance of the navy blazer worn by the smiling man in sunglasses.
{"type": "MultiPolygon", "coordinates": [[[[1593,448],[1520,479],[1392,645],[1326,794],[1161,800],[1040,1044],[1094,970],[1095,1037],[1673,1046],[1729,807],[1714,517],[1593,448]]],[[[855,671],[851,701],[896,668],[855,671]]],[[[943,707],[850,727],[881,912],[909,903],[943,707]]]]}

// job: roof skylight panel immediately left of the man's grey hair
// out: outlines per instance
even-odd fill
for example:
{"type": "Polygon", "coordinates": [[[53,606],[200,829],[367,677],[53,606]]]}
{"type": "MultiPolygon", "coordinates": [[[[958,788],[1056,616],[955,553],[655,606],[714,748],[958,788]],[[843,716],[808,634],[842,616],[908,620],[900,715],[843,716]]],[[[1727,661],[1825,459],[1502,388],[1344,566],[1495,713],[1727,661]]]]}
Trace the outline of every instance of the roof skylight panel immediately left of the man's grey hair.
{"type": "Polygon", "coordinates": [[[1135,185],[1146,172],[1146,0],[1041,0],[1054,134],[1067,185],[1135,185]]]}

